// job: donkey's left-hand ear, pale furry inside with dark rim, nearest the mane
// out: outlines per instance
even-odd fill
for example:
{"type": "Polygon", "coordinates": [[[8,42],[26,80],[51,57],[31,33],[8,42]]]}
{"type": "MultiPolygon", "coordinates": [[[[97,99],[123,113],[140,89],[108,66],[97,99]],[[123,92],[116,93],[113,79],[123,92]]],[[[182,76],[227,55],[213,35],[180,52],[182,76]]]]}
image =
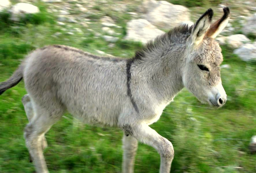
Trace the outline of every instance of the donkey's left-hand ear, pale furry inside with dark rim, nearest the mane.
{"type": "Polygon", "coordinates": [[[208,9],[195,23],[192,34],[191,34],[191,41],[192,44],[195,46],[199,45],[206,34],[206,31],[208,30],[210,23],[212,21],[213,17],[213,10],[208,9]]]}

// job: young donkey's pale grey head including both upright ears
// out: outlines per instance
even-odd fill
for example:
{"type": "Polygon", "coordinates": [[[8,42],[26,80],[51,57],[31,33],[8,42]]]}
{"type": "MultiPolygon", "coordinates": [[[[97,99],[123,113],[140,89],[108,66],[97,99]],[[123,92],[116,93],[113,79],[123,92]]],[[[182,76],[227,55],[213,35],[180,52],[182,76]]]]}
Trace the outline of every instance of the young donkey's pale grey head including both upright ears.
{"type": "Polygon", "coordinates": [[[208,9],[194,24],[187,40],[183,84],[200,101],[220,107],[226,103],[227,95],[222,87],[220,64],[223,61],[221,48],[214,38],[226,27],[229,9],[211,24],[213,10],[208,9]]]}

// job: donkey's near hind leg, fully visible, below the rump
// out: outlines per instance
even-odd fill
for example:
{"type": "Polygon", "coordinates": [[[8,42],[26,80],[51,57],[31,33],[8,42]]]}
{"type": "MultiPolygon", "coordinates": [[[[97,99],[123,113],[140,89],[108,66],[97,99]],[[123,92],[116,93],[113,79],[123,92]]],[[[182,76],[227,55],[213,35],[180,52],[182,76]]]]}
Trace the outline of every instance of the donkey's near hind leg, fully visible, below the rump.
{"type": "Polygon", "coordinates": [[[64,111],[63,109],[58,109],[60,107],[56,107],[55,110],[46,110],[40,106],[33,107],[35,108],[34,117],[26,126],[24,133],[26,146],[33,159],[36,171],[38,173],[48,173],[42,149],[43,136],[60,119],[64,111]]]}

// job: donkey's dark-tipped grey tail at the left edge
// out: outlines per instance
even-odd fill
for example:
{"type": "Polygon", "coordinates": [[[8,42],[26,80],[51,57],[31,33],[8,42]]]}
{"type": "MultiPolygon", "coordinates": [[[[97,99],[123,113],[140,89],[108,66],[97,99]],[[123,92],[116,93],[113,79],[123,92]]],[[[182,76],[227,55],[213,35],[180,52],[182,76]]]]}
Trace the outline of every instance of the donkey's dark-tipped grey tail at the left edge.
{"type": "Polygon", "coordinates": [[[13,73],[13,75],[7,80],[0,83],[0,95],[9,88],[17,85],[23,78],[24,66],[21,64],[18,69],[13,73]]]}

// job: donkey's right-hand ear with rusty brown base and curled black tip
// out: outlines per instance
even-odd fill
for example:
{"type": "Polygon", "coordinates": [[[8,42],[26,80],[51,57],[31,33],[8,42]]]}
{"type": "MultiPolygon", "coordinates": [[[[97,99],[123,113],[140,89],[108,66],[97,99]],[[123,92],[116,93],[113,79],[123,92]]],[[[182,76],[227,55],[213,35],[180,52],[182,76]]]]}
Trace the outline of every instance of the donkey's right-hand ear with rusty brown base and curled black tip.
{"type": "Polygon", "coordinates": [[[223,16],[210,26],[210,28],[206,33],[206,37],[216,38],[217,35],[227,26],[230,18],[229,8],[228,7],[224,8],[223,12],[224,12],[223,16]]]}

